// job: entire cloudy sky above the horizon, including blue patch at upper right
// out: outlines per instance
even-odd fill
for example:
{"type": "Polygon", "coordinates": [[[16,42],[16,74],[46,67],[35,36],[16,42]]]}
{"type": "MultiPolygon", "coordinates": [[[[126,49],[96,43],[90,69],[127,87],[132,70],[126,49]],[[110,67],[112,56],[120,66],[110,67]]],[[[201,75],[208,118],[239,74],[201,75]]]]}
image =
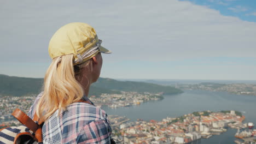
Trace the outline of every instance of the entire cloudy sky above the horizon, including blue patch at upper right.
{"type": "Polygon", "coordinates": [[[51,36],[89,23],[102,46],[101,77],[256,80],[255,0],[0,0],[0,74],[44,77],[51,36]]]}

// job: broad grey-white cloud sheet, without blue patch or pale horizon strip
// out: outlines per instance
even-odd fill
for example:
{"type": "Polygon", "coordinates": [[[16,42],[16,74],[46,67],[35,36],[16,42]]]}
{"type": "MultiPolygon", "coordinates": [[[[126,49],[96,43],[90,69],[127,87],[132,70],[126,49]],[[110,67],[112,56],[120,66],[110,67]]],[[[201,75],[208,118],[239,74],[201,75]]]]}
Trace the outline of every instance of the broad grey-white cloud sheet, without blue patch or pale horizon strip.
{"type": "Polygon", "coordinates": [[[75,21],[95,27],[107,63],[256,57],[255,22],[186,1],[4,1],[0,19],[0,62],[49,63],[51,35],[75,21]]]}

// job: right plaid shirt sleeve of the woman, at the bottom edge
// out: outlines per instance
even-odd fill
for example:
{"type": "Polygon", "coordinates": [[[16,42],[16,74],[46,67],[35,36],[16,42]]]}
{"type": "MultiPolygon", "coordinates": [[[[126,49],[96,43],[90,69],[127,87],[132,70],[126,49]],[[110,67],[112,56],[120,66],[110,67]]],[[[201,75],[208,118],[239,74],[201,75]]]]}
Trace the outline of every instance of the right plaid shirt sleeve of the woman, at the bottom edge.
{"type": "Polygon", "coordinates": [[[86,124],[77,136],[77,143],[109,143],[112,130],[104,120],[92,121],[86,124]]]}

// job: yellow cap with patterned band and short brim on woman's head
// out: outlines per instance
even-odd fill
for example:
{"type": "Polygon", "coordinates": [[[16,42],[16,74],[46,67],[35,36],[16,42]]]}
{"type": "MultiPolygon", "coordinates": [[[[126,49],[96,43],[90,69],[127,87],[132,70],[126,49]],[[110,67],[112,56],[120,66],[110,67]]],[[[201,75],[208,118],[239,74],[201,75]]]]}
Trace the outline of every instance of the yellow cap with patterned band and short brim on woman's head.
{"type": "Polygon", "coordinates": [[[98,52],[111,53],[101,46],[95,29],[82,22],[68,23],[53,35],[49,43],[49,55],[58,56],[74,54],[74,65],[87,61],[98,52]]]}

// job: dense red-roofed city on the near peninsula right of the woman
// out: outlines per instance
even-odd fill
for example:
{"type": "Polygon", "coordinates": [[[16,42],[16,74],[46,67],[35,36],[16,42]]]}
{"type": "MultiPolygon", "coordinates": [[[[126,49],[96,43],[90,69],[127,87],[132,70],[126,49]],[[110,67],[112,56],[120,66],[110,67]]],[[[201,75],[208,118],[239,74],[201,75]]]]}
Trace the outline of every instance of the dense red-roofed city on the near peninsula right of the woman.
{"type": "MultiPolygon", "coordinates": [[[[189,113],[178,118],[167,117],[160,122],[138,119],[136,122],[116,126],[113,125],[118,122],[113,122],[111,118],[113,138],[120,143],[189,143],[225,133],[228,127],[236,129],[247,127],[247,124],[242,123],[245,117],[236,115],[235,111],[229,113],[205,111],[194,114],[189,113]]],[[[119,117],[119,119],[124,121],[125,118],[119,117]]],[[[251,130],[250,134],[255,135],[256,130],[251,130]]]]}

